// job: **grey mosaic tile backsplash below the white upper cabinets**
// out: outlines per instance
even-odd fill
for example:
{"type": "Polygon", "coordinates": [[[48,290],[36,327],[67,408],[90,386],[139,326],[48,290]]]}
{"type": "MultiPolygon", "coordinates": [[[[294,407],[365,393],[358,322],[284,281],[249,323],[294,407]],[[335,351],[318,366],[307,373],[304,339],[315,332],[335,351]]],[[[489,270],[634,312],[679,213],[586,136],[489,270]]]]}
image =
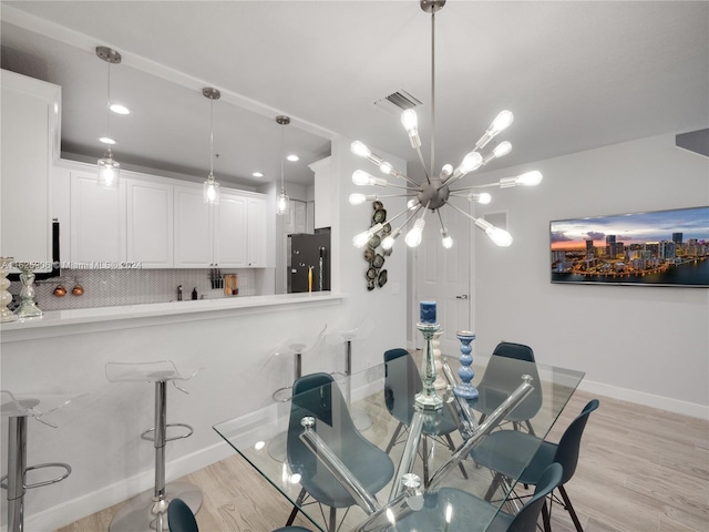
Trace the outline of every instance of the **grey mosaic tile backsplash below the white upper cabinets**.
{"type": "MultiPolygon", "coordinates": [[[[260,276],[268,269],[230,269],[222,275],[238,275],[238,295],[256,296],[260,276]]],[[[70,308],[112,307],[116,305],[140,305],[166,303],[177,299],[177,286],[183,287],[183,299],[191,299],[197,288],[199,298],[226,297],[224,289],[212,288],[209,269],[62,269],[58,279],[35,283],[37,306],[42,310],[65,310],[70,308]],[[54,290],[63,286],[66,295],[56,297],[54,290]],[[83,295],[75,296],[72,289],[80,285],[83,295]]],[[[14,308],[22,286],[13,282],[9,291],[14,296],[9,308],[14,308]]]]}

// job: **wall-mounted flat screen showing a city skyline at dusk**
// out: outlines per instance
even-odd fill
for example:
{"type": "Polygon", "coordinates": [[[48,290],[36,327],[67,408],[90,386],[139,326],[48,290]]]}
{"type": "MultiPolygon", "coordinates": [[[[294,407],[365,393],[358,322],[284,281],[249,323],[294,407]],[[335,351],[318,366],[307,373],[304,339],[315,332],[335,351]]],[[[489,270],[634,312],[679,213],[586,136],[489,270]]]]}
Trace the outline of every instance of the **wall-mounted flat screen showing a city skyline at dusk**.
{"type": "Polygon", "coordinates": [[[552,283],[709,287],[709,206],[549,223],[552,283]]]}

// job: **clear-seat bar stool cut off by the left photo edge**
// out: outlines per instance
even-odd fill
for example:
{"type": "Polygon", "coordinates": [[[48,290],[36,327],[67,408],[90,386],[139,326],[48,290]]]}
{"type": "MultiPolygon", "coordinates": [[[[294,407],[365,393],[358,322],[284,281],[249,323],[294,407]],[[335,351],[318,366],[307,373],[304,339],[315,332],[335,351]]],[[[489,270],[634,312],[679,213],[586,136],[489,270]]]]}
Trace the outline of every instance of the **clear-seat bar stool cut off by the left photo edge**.
{"type": "MultiPolygon", "coordinates": [[[[27,418],[34,418],[38,421],[56,428],[42,419],[49,413],[34,409],[40,401],[38,399],[16,399],[12,392],[1,390],[2,396],[0,410],[3,418],[8,418],[8,474],[0,479],[0,485],[8,490],[8,532],[22,532],[24,530],[24,493],[33,488],[50,485],[61,482],[71,474],[71,466],[62,462],[48,462],[38,466],[27,467],[27,418]],[[44,469],[58,468],[64,472],[55,479],[27,483],[27,472],[44,469]]],[[[64,405],[70,401],[64,402],[64,405]]],[[[63,406],[63,405],[62,405],[63,406]]],[[[61,407],[58,407],[61,408],[61,407]]],[[[50,410],[54,411],[56,408],[50,410]]]]}

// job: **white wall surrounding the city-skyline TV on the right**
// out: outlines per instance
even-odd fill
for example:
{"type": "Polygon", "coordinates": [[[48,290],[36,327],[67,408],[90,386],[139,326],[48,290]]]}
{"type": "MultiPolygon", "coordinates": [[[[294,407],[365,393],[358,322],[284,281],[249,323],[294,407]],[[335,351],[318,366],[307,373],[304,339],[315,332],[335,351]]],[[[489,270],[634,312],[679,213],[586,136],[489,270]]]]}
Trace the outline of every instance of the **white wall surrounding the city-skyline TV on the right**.
{"type": "MultiPolygon", "coordinates": [[[[514,236],[495,248],[475,232],[476,349],[528,344],[538,360],[586,371],[583,387],[693,416],[709,415],[709,289],[549,282],[552,219],[709,205],[709,160],[672,134],[534,165],[536,188],[507,188],[476,215],[506,212],[514,236]]],[[[482,207],[482,208],[481,208],[482,207]]]]}

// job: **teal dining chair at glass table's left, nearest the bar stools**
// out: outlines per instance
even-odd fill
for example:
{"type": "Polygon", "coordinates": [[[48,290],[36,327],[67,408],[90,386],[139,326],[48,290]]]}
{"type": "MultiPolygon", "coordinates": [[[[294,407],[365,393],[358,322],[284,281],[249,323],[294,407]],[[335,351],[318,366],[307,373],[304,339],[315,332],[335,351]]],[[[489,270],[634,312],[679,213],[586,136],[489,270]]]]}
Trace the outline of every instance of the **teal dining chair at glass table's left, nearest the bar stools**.
{"type": "Polygon", "coordinates": [[[330,508],[328,530],[335,532],[337,509],[356,504],[342,484],[320,464],[312,451],[300,441],[301,420],[316,419],[318,436],[352,472],[369,493],[377,493],[394,474],[389,454],[364,438],[354,427],[339,386],[330,374],[305,375],[294,382],[287,456],[292,473],[300,474],[301,490],[286,525],[292,524],[298,509],[309,495],[330,508]]]}

